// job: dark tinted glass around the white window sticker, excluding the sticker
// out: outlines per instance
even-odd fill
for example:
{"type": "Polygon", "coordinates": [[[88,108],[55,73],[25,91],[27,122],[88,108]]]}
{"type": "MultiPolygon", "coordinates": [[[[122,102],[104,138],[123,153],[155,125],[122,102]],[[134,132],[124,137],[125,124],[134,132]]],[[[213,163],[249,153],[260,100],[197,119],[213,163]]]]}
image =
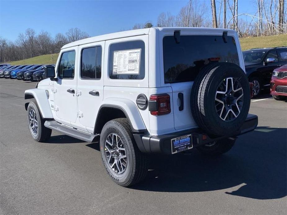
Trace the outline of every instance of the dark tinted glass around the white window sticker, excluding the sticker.
{"type": "Polygon", "coordinates": [[[110,45],[109,54],[109,73],[112,79],[144,79],[145,77],[145,43],[143,41],[128,41],[114,43],[110,45]],[[114,74],[114,52],[120,50],[141,49],[139,56],[139,73],[138,74],[114,74]]]}

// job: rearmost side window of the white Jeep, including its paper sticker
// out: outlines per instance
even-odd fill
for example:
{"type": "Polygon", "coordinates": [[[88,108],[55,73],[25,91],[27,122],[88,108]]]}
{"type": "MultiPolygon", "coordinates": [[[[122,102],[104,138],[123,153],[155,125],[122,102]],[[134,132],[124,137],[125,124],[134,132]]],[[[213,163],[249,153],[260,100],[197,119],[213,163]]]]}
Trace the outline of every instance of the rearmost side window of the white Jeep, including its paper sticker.
{"type": "Polygon", "coordinates": [[[111,44],[109,74],[112,79],[144,79],[145,43],[138,40],[111,44]]]}

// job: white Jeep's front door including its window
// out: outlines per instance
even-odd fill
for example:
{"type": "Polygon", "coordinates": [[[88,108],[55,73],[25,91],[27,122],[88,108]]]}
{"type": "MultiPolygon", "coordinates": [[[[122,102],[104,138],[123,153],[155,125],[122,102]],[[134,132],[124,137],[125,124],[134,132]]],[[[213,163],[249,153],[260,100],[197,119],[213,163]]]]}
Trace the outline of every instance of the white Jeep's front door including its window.
{"type": "MultiPolygon", "coordinates": [[[[75,58],[78,47],[61,52],[61,59],[57,67],[57,81],[55,88],[55,108],[56,116],[64,124],[75,122],[77,118],[76,86],[77,79],[75,72],[75,58]]],[[[76,66],[76,67],[75,67],[76,66]]]]}

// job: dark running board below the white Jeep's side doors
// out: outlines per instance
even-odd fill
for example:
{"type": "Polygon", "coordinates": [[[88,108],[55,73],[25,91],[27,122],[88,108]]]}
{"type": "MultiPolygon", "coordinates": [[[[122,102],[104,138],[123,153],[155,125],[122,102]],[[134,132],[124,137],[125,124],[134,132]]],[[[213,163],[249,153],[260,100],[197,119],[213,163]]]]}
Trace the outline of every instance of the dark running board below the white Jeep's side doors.
{"type": "Polygon", "coordinates": [[[80,131],[78,129],[71,128],[69,126],[63,125],[61,123],[56,122],[55,120],[51,121],[45,121],[44,123],[45,127],[59,131],[63,134],[66,134],[70,137],[74,137],[89,143],[93,143],[96,140],[96,137],[99,136],[99,134],[89,134],[84,131],[80,131]]]}

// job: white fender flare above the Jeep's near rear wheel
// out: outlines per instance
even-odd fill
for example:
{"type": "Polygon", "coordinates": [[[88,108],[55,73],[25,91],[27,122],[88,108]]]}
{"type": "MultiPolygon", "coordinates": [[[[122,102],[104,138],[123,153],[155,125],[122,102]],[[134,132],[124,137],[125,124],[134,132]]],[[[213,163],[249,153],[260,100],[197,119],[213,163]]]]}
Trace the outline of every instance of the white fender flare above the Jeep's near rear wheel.
{"type": "Polygon", "coordinates": [[[128,121],[131,124],[132,130],[137,132],[145,132],[146,125],[144,124],[141,114],[135,103],[128,99],[109,98],[104,100],[103,107],[118,108],[124,112],[128,121]]]}

